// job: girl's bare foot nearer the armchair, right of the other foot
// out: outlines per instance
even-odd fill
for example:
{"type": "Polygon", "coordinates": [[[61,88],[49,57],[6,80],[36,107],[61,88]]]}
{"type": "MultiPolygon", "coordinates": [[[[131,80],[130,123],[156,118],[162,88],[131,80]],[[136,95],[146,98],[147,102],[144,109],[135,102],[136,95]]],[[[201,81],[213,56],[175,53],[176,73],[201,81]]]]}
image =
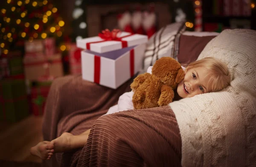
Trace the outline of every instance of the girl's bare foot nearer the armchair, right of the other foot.
{"type": "Polygon", "coordinates": [[[71,133],[63,133],[57,139],[54,139],[50,142],[50,144],[54,145],[55,153],[65,152],[72,150],[70,138],[73,136],[71,133]]]}

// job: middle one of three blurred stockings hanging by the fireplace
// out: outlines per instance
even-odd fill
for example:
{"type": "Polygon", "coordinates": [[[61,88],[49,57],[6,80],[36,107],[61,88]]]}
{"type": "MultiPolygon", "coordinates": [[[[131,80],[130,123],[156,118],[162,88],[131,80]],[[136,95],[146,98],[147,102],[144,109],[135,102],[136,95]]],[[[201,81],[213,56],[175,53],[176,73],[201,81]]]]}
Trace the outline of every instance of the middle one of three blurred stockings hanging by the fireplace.
{"type": "Polygon", "coordinates": [[[137,8],[136,11],[132,14],[132,19],[131,19],[131,25],[134,29],[134,32],[136,34],[145,34],[142,26],[142,12],[140,11],[140,8],[137,8]]]}

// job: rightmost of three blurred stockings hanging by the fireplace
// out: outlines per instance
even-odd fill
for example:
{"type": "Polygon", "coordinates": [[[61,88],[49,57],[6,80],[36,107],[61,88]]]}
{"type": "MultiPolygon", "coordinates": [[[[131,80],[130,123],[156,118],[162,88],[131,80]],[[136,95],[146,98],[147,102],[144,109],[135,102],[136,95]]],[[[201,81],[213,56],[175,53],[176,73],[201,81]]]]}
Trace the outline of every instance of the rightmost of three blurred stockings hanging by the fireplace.
{"type": "Polygon", "coordinates": [[[143,28],[148,38],[150,38],[157,31],[156,28],[156,14],[154,11],[144,12],[143,28]]]}

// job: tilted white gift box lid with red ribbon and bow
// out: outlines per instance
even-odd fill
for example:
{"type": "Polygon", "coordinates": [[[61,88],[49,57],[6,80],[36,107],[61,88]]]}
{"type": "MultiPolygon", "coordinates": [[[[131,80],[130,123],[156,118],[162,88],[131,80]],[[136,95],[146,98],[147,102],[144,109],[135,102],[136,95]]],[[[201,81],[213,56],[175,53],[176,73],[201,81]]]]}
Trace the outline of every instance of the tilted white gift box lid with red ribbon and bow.
{"type": "Polygon", "coordinates": [[[141,34],[131,34],[114,29],[104,30],[99,36],[80,39],[76,41],[78,48],[87,49],[97,53],[116,51],[148,42],[148,37],[141,34]]]}

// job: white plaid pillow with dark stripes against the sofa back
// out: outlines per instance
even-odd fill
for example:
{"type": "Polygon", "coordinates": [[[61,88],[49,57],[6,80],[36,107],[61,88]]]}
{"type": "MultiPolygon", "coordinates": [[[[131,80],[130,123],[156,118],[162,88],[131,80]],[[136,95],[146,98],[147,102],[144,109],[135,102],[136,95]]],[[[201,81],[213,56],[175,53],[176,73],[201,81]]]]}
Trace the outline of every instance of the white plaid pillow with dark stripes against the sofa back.
{"type": "Polygon", "coordinates": [[[183,22],[172,23],[161,28],[148,40],[144,54],[144,72],[161,57],[177,59],[178,45],[175,45],[175,43],[178,42],[175,42],[175,40],[178,40],[180,34],[182,34],[185,29],[186,25],[183,22]]]}

